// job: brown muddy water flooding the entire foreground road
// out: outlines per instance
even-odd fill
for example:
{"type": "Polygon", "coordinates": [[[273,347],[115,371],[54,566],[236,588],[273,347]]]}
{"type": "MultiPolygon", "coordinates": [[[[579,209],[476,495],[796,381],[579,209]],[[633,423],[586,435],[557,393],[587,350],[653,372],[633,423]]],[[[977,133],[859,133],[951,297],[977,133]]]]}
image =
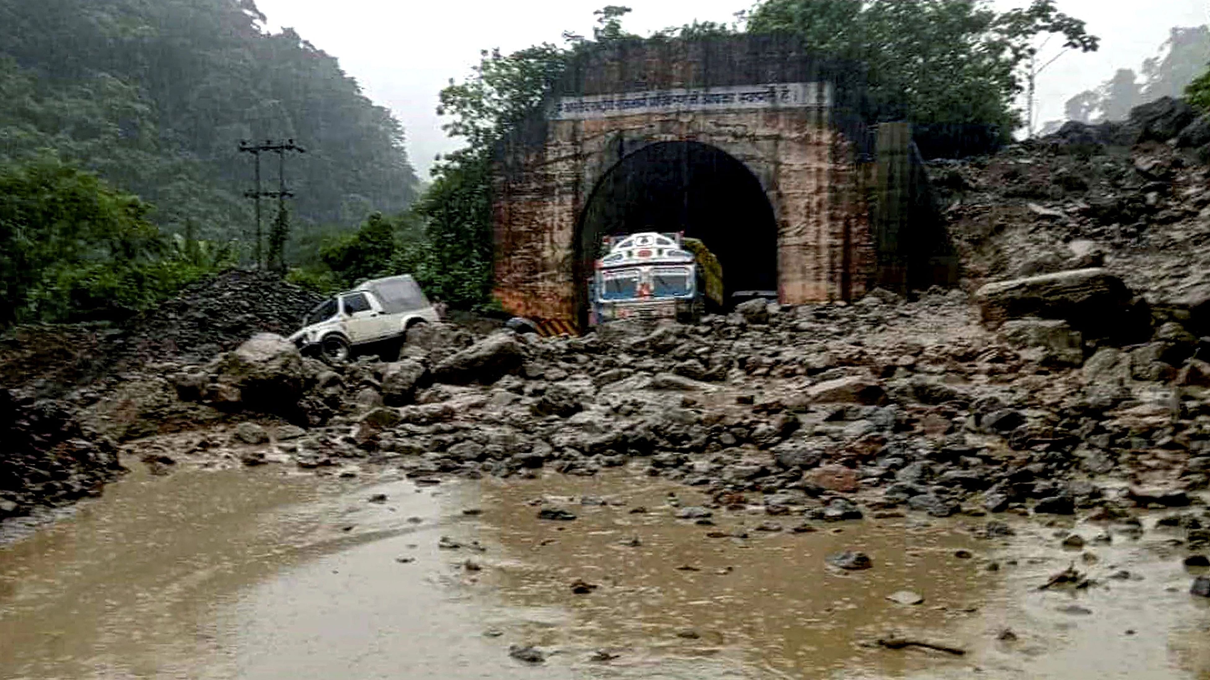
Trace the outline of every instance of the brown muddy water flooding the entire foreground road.
{"type": "Polygon", "coordinates": [[[1094,564],[1027,521],[985,541],[974,518],[675,519],[705,501],[626,472],[137,471],[0,547],[0,678],[1210,679],[1210,611],[1163,534],[1090,544],[1094,564]],[[845,549],[872,569],[825,564],[845,549]],[[1104,586],[1037,590],[1071,561],[1104,586]],[[904,590],[923,601],[887,599],[904,590]],[[968,653],[869,646],[892,633],[968,653]]]}

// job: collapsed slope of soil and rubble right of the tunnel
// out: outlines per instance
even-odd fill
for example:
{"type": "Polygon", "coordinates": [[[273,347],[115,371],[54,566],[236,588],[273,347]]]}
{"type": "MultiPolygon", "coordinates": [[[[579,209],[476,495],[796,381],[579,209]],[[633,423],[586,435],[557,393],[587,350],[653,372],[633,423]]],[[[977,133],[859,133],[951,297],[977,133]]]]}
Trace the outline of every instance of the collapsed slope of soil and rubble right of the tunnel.
{"type": "Polygon", "coordinates": [[[1165,98],[929,174],[974,286],[1105,266],[1165,307],[1210,300],[1208,160],[1210,116],[1165,98]]]}

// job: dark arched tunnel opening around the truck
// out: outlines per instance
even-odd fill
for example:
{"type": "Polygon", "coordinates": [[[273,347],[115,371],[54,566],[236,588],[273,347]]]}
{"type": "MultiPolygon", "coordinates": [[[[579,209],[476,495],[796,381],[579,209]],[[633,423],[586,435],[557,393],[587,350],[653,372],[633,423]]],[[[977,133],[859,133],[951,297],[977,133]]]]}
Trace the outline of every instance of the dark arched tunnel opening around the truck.
{"type": "Polygon", "coordinates": [[[584,206],[576,240],[581,327],[603,237],[639,231],[701,240],[722,266],[727,307],[736,293],[778,289],[777,220],[760,180],[715,146],[662,142],[618,161],[584,206]]]}

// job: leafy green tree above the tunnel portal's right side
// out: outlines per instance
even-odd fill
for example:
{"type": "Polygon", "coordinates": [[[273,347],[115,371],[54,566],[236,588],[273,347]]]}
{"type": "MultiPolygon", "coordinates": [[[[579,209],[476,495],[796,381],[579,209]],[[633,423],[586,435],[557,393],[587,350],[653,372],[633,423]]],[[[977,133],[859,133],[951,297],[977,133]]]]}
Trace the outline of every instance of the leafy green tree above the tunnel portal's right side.
{"type": "Polygon", "coordinates": [[[1037,36],[1097,48],[1084,22],[1053,0],[1004,13],[980,0],[765,0],[748,30],[795,33],[817,51],[866,64],[880,120],[995,123],[1006,134],[1021,123],[1013,102],[1037,36]]]}

